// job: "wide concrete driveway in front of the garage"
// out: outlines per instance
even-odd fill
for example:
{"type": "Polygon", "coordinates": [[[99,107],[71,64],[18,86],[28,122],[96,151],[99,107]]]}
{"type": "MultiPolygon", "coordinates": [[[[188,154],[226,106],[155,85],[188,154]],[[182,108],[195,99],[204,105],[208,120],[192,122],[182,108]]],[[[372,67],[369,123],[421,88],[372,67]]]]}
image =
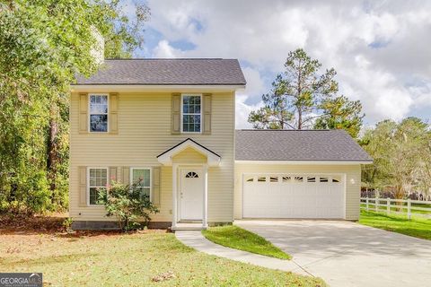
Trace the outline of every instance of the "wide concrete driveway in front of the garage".
{"type": "Polygon", "coordinates": [[[431,286],[431,241],[354,222],[240,221],[330,286],[431,286]]]}

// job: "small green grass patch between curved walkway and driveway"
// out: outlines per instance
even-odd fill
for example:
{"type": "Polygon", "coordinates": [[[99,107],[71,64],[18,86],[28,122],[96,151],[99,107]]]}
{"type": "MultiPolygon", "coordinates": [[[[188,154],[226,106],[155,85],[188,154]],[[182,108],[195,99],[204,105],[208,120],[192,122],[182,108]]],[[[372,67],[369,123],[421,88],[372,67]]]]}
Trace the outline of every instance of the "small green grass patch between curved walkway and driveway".
{"type": "Polygon", "coordinates": [[[235,225],[213,227],[208,230],[203,230],[202,233],[208,240],[228,248],[240,249],[279,259],[291,258],[268,240],[235,225]]]}

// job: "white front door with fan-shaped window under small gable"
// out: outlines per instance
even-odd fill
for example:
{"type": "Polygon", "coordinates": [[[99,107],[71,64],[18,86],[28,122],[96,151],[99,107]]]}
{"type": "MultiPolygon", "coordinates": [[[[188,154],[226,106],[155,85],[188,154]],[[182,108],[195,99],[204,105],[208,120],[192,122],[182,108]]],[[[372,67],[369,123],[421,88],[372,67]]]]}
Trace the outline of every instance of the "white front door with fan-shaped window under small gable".
{"type": "Polygon", "coordinates": [[[200,221],[204,213],[204,177],[200,169],[180,169],[180,220],[200,221]]]}

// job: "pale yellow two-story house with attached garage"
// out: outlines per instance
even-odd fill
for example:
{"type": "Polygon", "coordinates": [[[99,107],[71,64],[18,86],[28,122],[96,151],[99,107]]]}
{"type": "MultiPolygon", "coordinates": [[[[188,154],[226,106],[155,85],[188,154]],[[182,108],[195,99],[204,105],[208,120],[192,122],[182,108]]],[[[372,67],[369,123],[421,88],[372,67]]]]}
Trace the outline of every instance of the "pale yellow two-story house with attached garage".
{"type": "Polygon", "coordinates": [[[344,131],[235,133],[234,59],[106,60],[72,86],[69,213],[75,229],[113,228],[97,204],[111,180],[158,206],[151,225],[241,218],[357,220],[360,165],[344,131]]]}

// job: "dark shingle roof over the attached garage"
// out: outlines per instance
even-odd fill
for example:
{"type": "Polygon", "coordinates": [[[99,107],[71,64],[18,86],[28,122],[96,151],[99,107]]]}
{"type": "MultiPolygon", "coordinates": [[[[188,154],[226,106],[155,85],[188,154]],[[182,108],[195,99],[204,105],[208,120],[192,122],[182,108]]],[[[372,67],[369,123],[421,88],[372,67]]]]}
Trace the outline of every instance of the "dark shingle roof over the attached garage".
{"type": "Polygon", "coordinates": [[[236,161],[373,161],[344,130],[237,130],[236,161]]]}

